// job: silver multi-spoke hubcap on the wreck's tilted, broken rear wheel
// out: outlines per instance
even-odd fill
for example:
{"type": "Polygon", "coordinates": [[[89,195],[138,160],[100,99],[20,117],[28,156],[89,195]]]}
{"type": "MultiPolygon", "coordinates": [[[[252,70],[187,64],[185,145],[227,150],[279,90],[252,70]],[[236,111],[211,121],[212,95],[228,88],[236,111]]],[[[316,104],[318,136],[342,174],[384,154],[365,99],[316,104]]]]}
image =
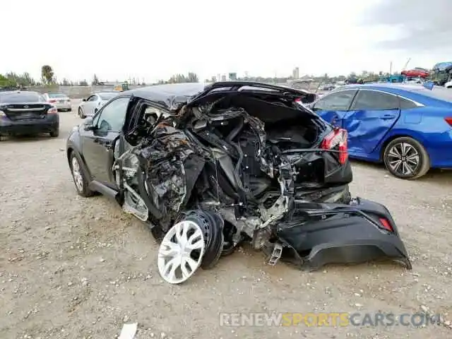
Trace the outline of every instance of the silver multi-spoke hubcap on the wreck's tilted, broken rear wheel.
{"type": "Polygon", "coordinates": [[[201,265],[205,250],[201,227],[184,220],[171,227],[158,250],[158,270],[171,284],[183,283],[201,265]]]}

